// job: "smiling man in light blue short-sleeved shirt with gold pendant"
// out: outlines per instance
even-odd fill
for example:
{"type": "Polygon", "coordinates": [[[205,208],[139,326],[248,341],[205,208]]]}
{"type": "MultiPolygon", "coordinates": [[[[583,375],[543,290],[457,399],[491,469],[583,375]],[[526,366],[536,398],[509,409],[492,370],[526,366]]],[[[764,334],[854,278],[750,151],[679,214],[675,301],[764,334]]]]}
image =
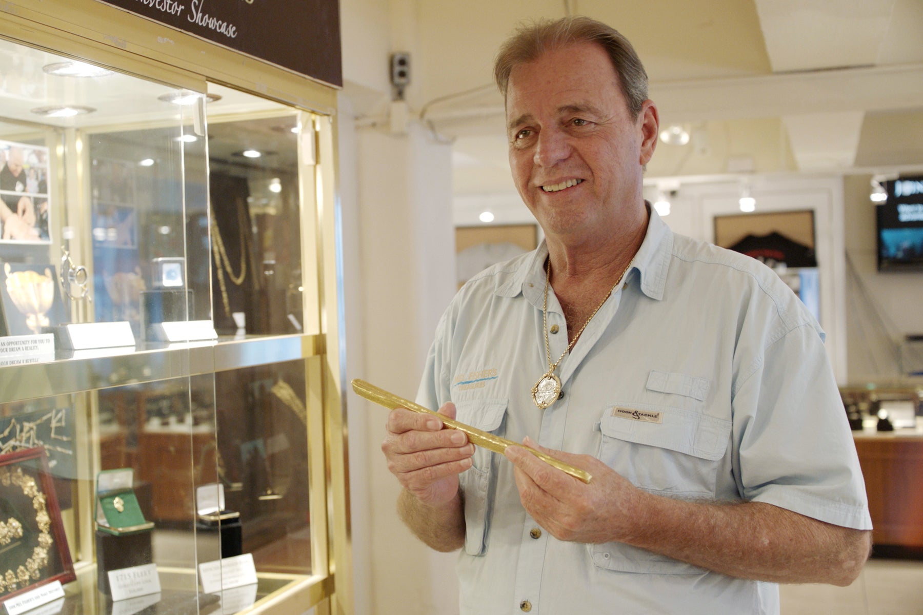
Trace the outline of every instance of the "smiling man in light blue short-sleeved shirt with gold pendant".
{"type": "Polygon", "coordinates": [[[539,24],[495,74],[545,242],[462,288],[418,401],[593,479],[390,414],[400,513],[463,549],[462,613],[777,613],[776,583],[851,583],[871,524],[821,329],[770,269],[644,202],[658,116],[629,42],[539,24]]]}

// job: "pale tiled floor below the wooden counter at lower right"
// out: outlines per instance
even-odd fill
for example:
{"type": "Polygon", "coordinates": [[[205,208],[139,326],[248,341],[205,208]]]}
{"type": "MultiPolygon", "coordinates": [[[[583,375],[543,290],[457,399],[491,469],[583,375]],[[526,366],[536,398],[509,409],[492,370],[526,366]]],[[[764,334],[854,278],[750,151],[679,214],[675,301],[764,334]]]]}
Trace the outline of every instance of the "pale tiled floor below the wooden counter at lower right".
{"type": "Polygon", "coordinates": [[[923,615],[923,562],[869,560],[848,587],[782,585],[782,615],[923,615]]]}

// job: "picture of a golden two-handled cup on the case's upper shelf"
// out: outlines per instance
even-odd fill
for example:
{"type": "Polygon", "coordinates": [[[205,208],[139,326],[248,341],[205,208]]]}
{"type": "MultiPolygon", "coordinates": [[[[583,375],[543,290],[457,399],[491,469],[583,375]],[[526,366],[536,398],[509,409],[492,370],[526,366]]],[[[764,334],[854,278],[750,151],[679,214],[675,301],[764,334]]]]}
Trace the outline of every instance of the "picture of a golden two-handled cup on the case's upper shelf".
{"type": "MultiPolygon", "coordinates": [[[[7,336],[38,335],[65,322],[66,311],[54,265],[0,265],[0,302],[7,336]]],[[[0,327],[4,328],[4,327],[0,327]]]]}

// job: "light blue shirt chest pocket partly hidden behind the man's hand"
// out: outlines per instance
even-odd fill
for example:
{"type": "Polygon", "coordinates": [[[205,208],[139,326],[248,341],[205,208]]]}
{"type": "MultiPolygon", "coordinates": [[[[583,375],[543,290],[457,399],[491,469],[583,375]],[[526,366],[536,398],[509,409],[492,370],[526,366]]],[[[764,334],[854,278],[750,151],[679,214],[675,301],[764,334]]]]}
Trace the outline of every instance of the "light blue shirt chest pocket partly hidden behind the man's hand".
{"type": "MultiPolygon", "coordinates": [[[[455,403],[455,418],[483,432],[501,435],[507,415],[507,399],[473,399],[455,403]]],[[[464,495],[464,550],[469,555],[483,555],[486,550],[490,521],[490,504],[497,482],[496,455],[481,446],[474,447],[473,465],[459,475],[464,495]]]]}

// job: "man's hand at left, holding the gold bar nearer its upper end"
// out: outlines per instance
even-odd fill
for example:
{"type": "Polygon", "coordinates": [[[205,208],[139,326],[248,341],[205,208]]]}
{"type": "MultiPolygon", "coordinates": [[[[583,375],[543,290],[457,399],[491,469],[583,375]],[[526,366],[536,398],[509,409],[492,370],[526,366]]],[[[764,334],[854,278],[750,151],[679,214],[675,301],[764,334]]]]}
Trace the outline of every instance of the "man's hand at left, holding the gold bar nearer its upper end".
{"type": "MultiPolygon", "coordinates": [[[[445,404],[439,414],[454,419],[455,405],[445,404]]],[[[474,454],[464,432],[443,429],[442,421],[433,415],[405,408],[391,410],[386,429],[381,450],[404,489],[435,508],[458,496],[459,474],[472,466],[474,454]]]]}

